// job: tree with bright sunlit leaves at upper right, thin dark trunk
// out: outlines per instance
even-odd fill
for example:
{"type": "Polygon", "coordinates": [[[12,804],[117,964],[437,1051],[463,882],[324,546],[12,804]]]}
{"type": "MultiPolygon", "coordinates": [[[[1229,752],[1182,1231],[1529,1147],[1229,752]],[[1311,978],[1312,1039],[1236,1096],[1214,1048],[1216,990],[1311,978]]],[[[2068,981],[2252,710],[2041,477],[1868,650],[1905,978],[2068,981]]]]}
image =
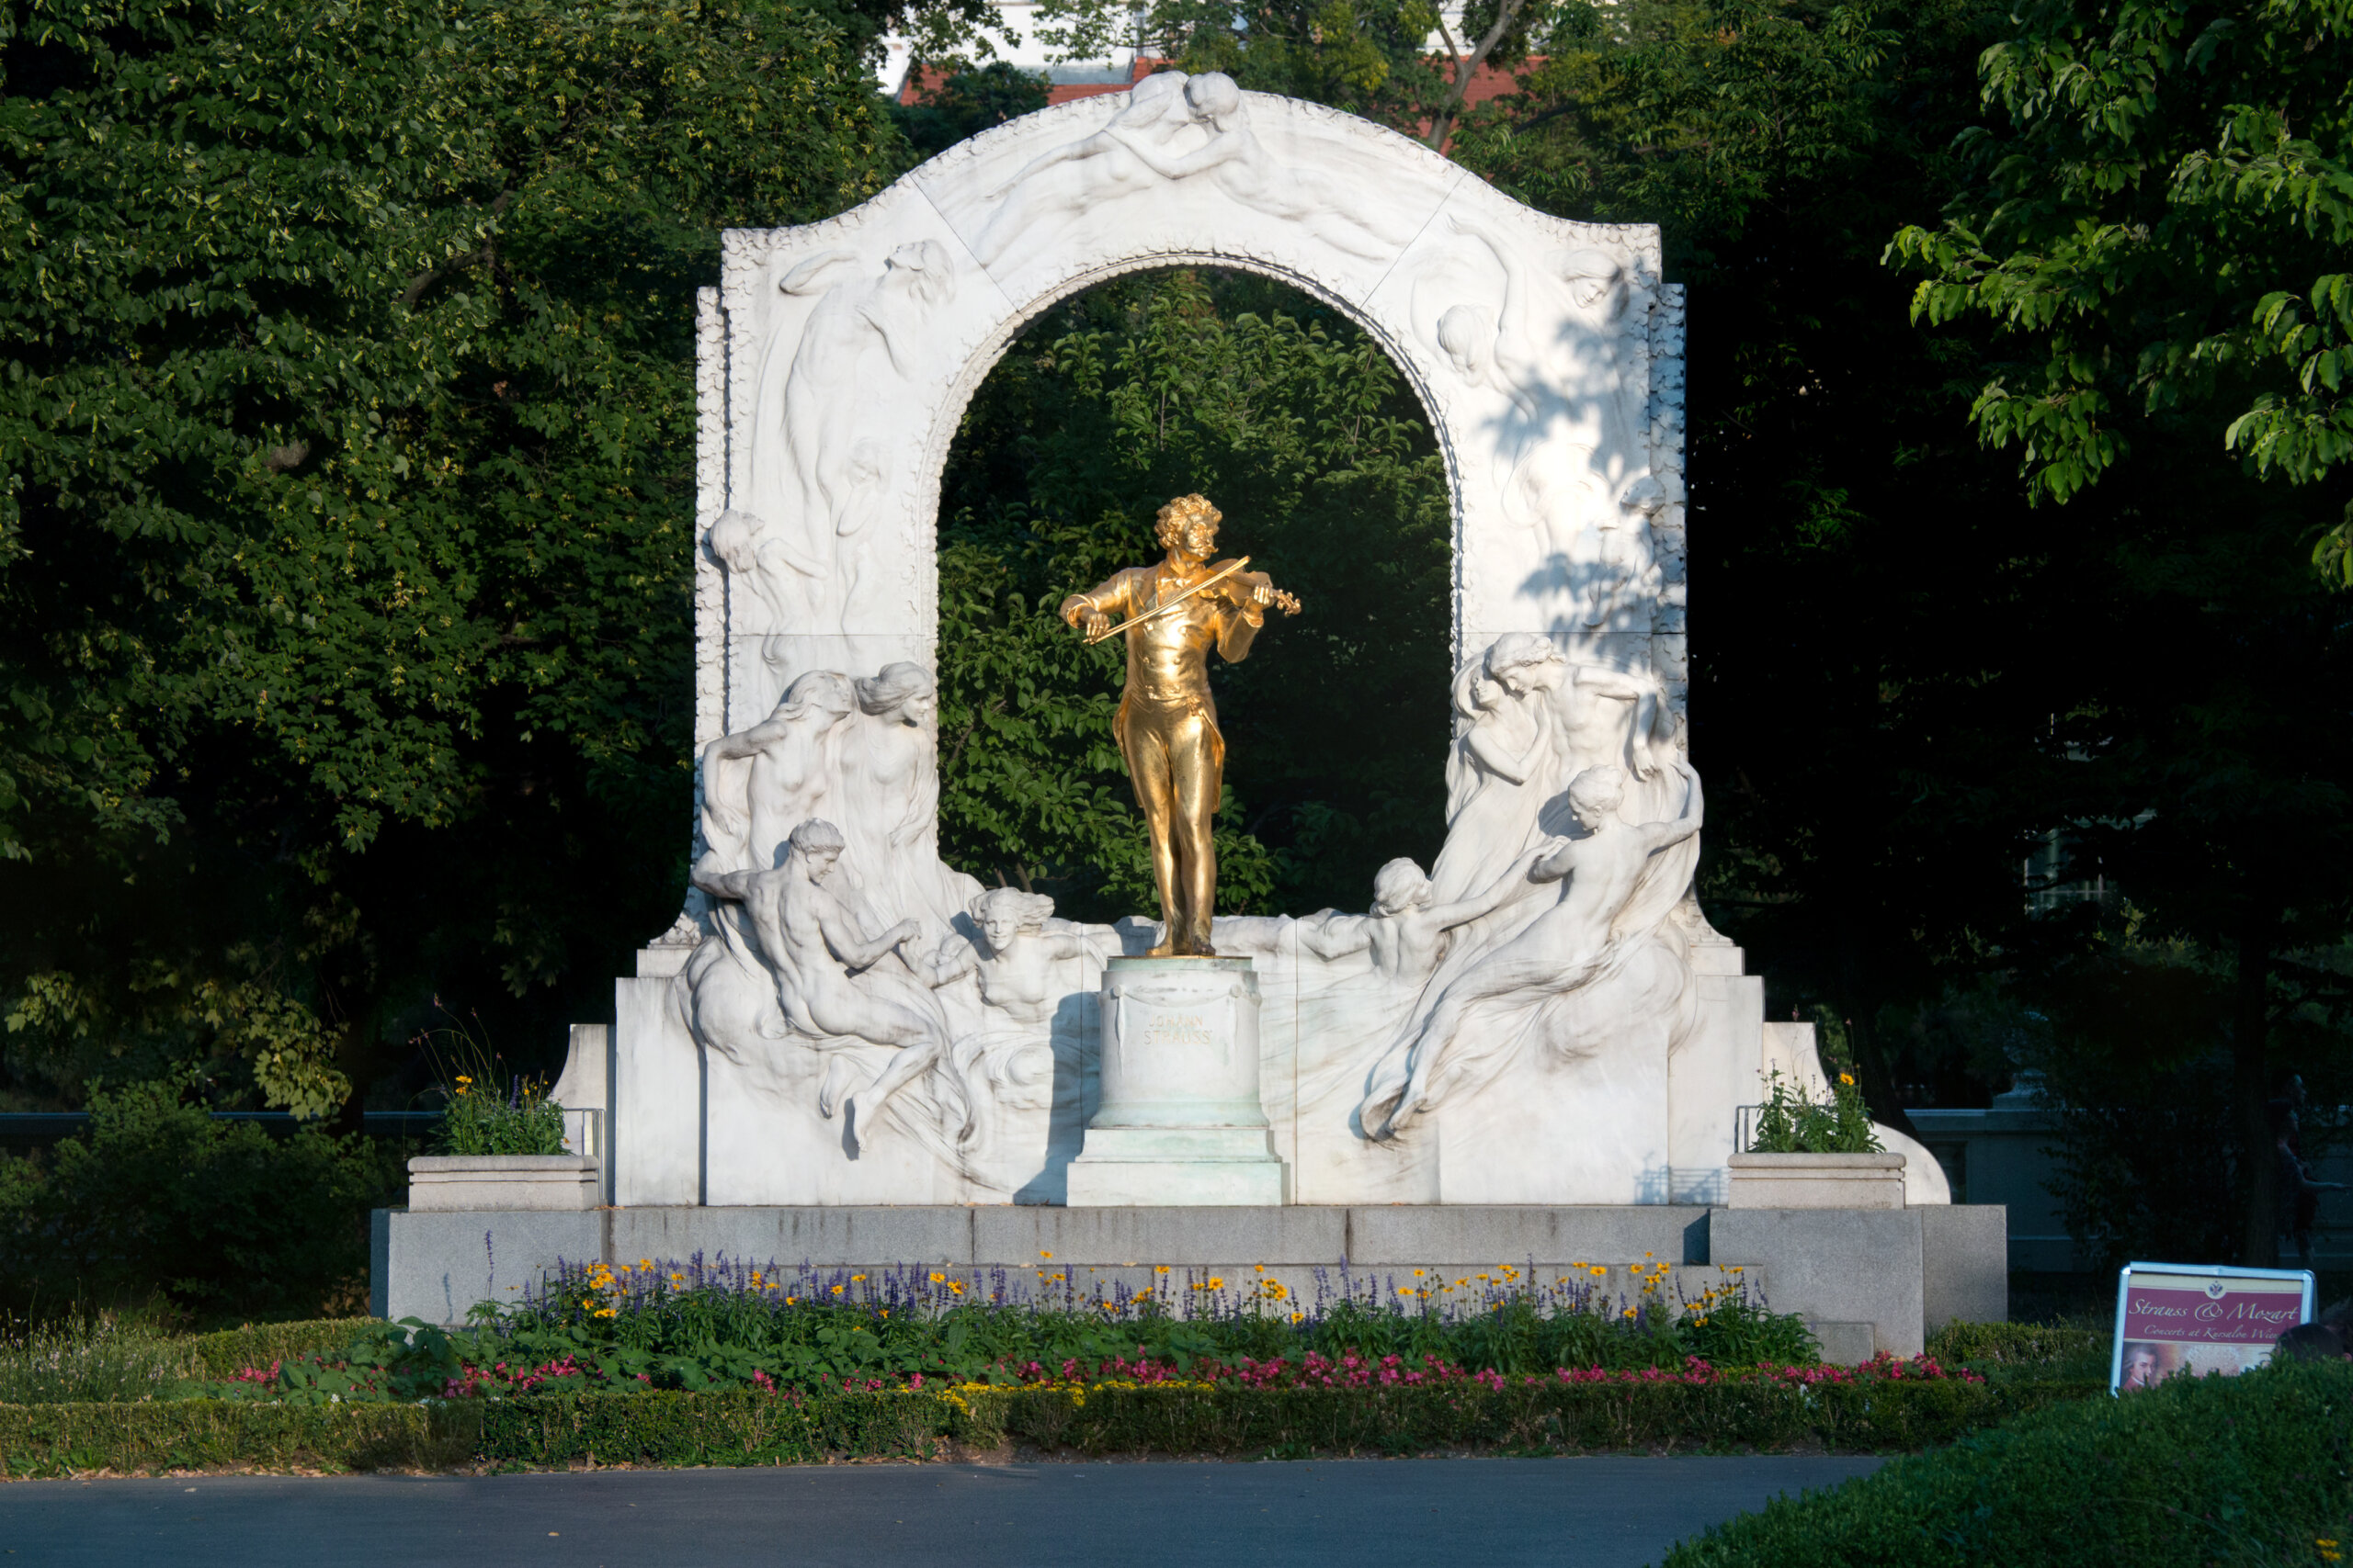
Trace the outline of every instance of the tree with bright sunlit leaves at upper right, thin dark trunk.
{"type": "MultiPolygon", "coordinates": [[[[2325,609],[2294,607],[2278,583],[2245,602],[2264,564],[2221,545],[2268,536],[2257,548],[2278,552],[2282,531],[2320,534],[2315,562],[2337,564],[2353,510],[2327,529],[2311,508],[2167,447],[2228,449],[2252,475],[2294,484],[2353,456],[2353,273],[2341,270],[2353,242],[2353,7],[2052,0],[1986,49],[1981,73],[1995,125],[1965,139],[1974,179],[1941,226],[1908,226],[1892,244],[1929,273],[1915,317],[1991,320],[2024,355],[1984,383],[1972,416],[1988,444],[2024,451],[2033,494],[2082,496],[2134,454],[2162,473],[2162,496],[2125,505],[2169,536],[2160,559],[2212,574],[2214,590],[2186,597],[2212,609],[2238,599],[2231,651],[2292,646],[2292,663],[2259,668],[2301,686],[2315,661],[2334,663],[2341,618],[2329,628],[2325,609]],[[2179,529],[2186,503],[2202,515],[2179,529]]],[[[2353,564],[2337,569],[2353,581],[2353,564]]],[[[2327,708],[2325,693],[2308,701],[2327,708]]],[[[2108,856],[2134,863],[2134,898],[2235,959],[2231,1093],[2249,1260],[2271,1258],[2275,1232],[2275,961],[2299,912],[2341,922],[2329,877],[2344,875],[2332,842],[2348,804],[2344,759],[2313,755],[2318,736],[2304,726],[2280,745],[2259,715],[2287,719],[2240,689],[2188,712],[2160,698],[2125,726],[2101,703],[2078,724],[2085,755],[2139,771],[2146,790],[2139,811],[2099,818],[2134,823],[2101,835],[2108,856]]]]}

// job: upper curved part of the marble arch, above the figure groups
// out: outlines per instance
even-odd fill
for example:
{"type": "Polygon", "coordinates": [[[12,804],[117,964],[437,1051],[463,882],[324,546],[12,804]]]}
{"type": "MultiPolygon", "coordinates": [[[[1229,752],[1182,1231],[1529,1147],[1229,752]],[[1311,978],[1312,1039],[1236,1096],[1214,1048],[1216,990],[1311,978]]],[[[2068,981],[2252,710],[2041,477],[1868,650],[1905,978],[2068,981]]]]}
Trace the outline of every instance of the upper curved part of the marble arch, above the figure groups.
{"type": "MultiPolygon", "coordinates": [[[[1654,670],[1680,712],[1682,292],[1659,230],[1551,219],[1367,120],[1169,73],[824,223],[725,235],[699,334],[699,748],[805,670],[934,668],[965,402],[1054,301],[1167,266],[1289,282],[1405,371],[1452,484],[1457,663],[1544,632],[1654,670]]],[[[1252,520],[1226,536],[1247,552],[1252,520]]]]}

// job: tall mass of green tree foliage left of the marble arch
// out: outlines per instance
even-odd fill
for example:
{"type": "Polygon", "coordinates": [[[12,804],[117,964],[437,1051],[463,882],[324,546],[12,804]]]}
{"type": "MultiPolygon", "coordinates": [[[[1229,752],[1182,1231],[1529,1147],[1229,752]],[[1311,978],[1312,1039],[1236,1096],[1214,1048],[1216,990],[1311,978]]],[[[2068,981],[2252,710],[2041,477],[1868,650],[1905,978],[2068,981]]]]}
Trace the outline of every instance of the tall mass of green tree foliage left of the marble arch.
{"type": "Polygon", "coordinates": [[[896,141],[795,7],[0,28],[12,1060],[318,1112],[675,905],[692,292],[896,141]]]}

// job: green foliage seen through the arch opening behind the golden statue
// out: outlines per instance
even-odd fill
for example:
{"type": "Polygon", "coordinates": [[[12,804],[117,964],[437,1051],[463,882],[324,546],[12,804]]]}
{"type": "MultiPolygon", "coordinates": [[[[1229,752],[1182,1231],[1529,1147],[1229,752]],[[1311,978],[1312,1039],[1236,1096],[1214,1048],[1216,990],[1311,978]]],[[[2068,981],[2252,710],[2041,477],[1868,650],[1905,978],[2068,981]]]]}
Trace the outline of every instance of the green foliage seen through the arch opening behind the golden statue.
{"type": "Polygon", "coordinates": [[[1120,644],[1054,609],[1160,555],[1188,491],[1219,548],[1306,599],[1212,661],[1228,741],[1221,912],[1365,903],[1442,837],[1449,512],[1428,423],[1372,339],[1221,273],[1049,310],[965,414],[941,491],[941,853],[1073,917],[1153,907],[1111,717],[1120,644]]]}

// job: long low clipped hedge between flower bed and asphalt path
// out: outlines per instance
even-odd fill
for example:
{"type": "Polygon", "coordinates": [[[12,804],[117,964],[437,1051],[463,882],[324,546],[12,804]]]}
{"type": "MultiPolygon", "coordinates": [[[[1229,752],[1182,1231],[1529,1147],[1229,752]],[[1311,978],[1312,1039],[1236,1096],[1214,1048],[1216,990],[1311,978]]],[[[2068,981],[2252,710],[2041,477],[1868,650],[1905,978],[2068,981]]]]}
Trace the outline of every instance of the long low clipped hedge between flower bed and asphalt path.
{"type": "Polygon", "coordinates": [[[1007,1439],[1085,1455],[1899,1450],[2085,1389],[1972,1382],[1445,1389],[1094,1387],[960,1394],[560,1394],[431,1406],[214,1399],[0,1406],[9,1476],[87,1469],[435,1469],[922,1460],[1007,1439]]]}

